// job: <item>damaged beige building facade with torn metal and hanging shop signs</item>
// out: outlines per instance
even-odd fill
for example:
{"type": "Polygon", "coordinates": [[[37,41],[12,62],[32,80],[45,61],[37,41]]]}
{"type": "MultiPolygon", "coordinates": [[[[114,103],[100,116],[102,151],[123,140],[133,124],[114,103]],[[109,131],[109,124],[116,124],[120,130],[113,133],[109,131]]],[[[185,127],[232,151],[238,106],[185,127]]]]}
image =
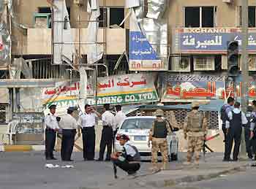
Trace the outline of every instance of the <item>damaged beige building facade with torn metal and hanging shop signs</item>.
{"type": "MultiPolygon", "coordinates": [[[[1,27],[11,39],[1,33],[1,44],[10,47],[0,51],[7,55],[0,61],[3,123],[12,117],[8,112],[42,111],[50,103],[64,108],[85,98],[90,104],[176,104],[240,95],[225,75],[227,42],[241,44],[242,0],[66,0],[65,7],[61,0],[12,0],[9,8],[10,1],[2,1],[1,27]]],[[[252,78],[255,28],[256,2],[249,0],[252,78]]]]}

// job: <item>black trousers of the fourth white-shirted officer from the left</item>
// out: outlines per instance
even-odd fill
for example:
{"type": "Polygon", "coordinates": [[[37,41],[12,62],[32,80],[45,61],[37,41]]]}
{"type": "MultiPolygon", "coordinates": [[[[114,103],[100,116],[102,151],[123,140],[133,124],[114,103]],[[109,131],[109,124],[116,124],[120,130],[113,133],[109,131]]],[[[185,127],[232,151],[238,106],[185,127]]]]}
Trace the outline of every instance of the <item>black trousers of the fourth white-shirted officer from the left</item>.
{"type": "Polygon", "coordinates": [[[99,160],[103,160],[106,146],[108,147],[106,160],[110,160],[110,155],[112,153],[112,140],[113,129],[109,126],[103,126],[102,138],[99,145],[99,160]]]}

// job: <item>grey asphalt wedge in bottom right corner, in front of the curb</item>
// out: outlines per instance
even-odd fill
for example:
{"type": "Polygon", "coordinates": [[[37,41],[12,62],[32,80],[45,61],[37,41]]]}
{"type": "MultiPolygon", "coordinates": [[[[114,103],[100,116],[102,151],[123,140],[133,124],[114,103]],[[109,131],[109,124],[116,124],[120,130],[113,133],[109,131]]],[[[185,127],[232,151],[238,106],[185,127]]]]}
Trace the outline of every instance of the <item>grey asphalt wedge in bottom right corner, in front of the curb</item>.
{"type": "Polygon", "coordinates": [[[182,183],[175,189],[255,189],[256,167],[249,167],[245,171],[230,175],[221,175],[214,180],[194,183],[182,183]]]}

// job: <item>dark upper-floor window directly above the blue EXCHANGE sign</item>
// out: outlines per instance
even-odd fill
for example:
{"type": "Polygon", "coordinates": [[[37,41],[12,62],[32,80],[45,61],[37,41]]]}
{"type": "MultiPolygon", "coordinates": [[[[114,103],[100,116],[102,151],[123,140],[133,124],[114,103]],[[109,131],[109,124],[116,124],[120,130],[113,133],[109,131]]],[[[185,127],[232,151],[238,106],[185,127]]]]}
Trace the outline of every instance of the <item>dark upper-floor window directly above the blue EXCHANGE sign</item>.
{"type": "Polygon", "coordinates": [[[217,7],[185,7],[184,18],[186,28],[214,28],[217,7]]]}

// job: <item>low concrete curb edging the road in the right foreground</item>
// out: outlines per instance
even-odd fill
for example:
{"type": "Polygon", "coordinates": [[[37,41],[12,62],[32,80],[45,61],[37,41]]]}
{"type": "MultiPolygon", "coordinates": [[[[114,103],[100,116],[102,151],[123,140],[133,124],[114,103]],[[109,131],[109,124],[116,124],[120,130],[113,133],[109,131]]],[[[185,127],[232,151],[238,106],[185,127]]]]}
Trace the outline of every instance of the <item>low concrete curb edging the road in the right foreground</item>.
{"type": "MultiPolygon", "coordinates": [[[[181,177],[181,178],[177,178],[176,180],[157,180],[157,181],[149,181],[149,182],[144,182],[144,185],[149,185],[149,186],[153,186],[156,188],[165,188],[165,187],[170,187],[170,186],[175,186],[178,184],[181,184],[183,182],[199,182],[202,180],[211,180],[214,178],[219,177],[222,174],[231,174],[233,172],[238,172],[241,171],[242,169],[245,169],[246,166],[248,166],[249,163],[244,163],[241,166],[235,166],[231,169],[225,169],[222,171],[217,171],[211,174],[200,174],[200,175],[194,175],[194,176],[187,176],[187,177],[181,177]]],[[[140,185],[140,183],[137,183],[138,185],[140,185]]]]}

